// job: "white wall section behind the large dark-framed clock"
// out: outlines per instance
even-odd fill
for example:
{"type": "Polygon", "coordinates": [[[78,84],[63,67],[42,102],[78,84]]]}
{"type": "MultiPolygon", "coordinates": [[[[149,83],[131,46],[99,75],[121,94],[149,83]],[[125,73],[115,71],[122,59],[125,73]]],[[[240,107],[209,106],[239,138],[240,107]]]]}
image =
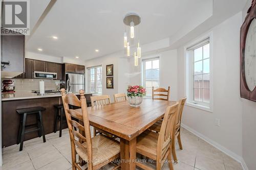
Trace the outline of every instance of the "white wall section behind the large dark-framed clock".
{"type": "MultiPolygon", "coordinates": [[[[243,10],[243,20],[247,14],[247,10],[251,5],[248,0],[243,10]]],[[[243,115],[243,158],[248,169],[256,169],[256,102],[242,99],[242,115],[243,115]]]]}

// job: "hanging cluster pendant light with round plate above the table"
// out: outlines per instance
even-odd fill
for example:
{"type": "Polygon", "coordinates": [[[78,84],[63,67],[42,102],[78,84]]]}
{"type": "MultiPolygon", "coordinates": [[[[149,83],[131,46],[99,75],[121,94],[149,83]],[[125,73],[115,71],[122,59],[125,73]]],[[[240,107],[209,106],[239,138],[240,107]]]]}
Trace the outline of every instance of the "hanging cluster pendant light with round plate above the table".
{"type": "Polygon", "coordinates": [[[134,53],[134,65],[138,66],[138,58],[141,58],[141,47],[139,43],[139,28],[136,28],[136,26],[140,24],[140,16],[135,13],[129,13],[124,17],[123,23],[124,23],[124,27],[129,27],[129,30],[130,30],[129,39],[126,31],[124,32],[123,46],[126,48],[127,56],[130,56],[131,49],[135,50],[135,52],[132,52],[132,54],[134,53]],[[136,29],[138,29],[138,31],[136,31],[136,29]],[[135,31],[136,31],[136,34],[135,34],[135,31]],[[131,46],[135,46],[135,47],[131,48],[131,46]]]}

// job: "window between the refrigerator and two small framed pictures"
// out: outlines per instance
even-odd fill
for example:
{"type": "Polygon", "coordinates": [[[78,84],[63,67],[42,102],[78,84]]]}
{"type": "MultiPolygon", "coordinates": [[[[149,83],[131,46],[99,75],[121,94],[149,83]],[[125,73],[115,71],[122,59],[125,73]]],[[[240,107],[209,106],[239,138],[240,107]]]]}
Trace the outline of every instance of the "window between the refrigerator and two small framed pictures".
{"type": "Polygon", "coordinates": [[[102,67],[95,66],[88,68],[89,72],[89,92],[102,93],[102,67]]]}

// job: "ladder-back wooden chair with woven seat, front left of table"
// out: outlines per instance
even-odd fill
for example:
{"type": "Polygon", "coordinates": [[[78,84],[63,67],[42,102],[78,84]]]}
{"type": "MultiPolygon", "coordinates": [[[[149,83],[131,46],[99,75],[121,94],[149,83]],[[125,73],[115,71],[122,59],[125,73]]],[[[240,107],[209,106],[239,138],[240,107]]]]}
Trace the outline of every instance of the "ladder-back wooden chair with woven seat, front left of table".
{"type": "MultiPolygon", "coordinates": [[[[120,146],[116,140],[108,138],[104,135],[97,135],[91,138],[90,123],[84,91],[79,90],[80,101],[75,94],[66,94],[65,89],[63,88],[60,91],[70,134],[72,169],[81,170],[78,162],[76,162],[76,153],[88,163],[87,169],[99,169],[108,164],[110,161],[119,158],[120,146]],[[76,110],[70,109],[69,104],[72,106],[81,107],[82,115],[76,110]],[[83,125],[76,120],[72,120],[71,116],[82,120],[83,125]],[[74,127],[79,129],[83,135],[74,130],[74,127]]],[[[119,167],[120,166],[116,166],[113,169],[117,169],[119,167]]]]}

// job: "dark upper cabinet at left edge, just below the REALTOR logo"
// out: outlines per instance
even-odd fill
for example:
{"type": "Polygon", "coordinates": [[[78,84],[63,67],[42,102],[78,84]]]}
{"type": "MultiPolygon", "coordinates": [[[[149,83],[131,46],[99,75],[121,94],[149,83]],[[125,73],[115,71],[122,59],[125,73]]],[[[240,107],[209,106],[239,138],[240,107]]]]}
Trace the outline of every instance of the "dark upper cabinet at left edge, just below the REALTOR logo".
{"type": "Polygon", "coordinates": [[[24,72],[25,36],[1,35],[1,63],[5,64],[2,77],[14,77],[24,72]]]}

